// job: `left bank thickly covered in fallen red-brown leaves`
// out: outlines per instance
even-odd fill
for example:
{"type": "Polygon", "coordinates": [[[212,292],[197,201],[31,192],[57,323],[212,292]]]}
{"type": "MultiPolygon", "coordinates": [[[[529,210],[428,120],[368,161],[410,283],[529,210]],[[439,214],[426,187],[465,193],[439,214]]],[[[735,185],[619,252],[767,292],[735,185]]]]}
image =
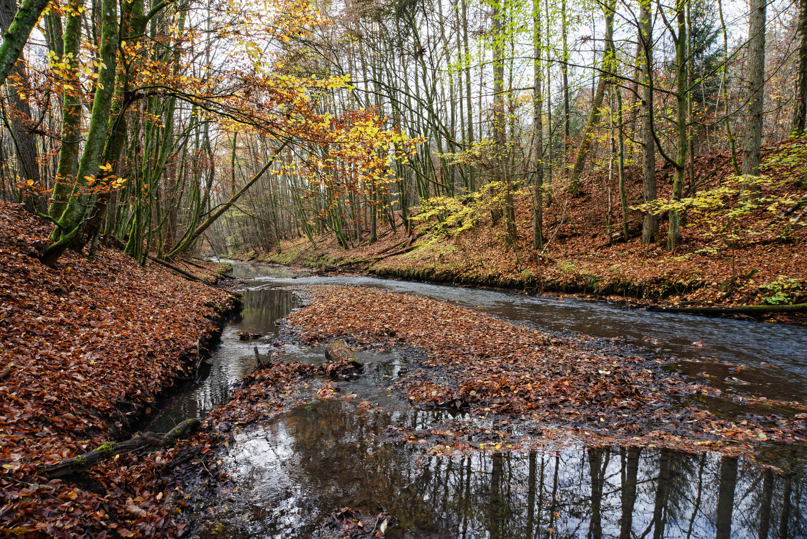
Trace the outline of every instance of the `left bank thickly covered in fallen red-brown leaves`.
{"type": "Polygon", "coordinates": [[[50,225],[6,203],[0,223],[0,527],[30,537],[174,535],[181,517],[163,504],[155,465],[165,452],[121,455],[75,478],[80,485],[37,468],[128,438],[161,390],[190,377],[198,339],[218,331],[236,298],[113,249],[92,261],[68,251],[48,268],[36,248],[50,225]]]}

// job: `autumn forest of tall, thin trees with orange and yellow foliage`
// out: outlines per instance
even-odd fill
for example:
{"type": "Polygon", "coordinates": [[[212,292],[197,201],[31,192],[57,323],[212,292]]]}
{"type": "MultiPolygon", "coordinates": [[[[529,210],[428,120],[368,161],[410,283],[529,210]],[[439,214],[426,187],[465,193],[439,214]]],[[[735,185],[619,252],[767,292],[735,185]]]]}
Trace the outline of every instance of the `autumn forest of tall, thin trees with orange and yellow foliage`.
{"type": "Polygon", "coordinates": [[[575,212],[667,251],[703,217],[690,235],[722,256],[763,206],[798,243],[805,21],[761,1],[6,2],[2,196],[54,223],[48,265],[99,239],[144,263],[485,225],[530,255],[575,212]]]}

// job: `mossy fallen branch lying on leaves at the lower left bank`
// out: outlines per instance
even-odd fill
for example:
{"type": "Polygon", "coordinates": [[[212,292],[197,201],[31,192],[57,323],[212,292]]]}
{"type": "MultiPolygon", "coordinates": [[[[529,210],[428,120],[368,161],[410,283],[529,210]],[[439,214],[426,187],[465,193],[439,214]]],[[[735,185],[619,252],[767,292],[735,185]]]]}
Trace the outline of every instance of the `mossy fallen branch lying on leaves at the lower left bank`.
{"type": "Polygon", "coordinates": [[[77,474],[78,472],[89,470],[102,461],[115,457],[115,455],[132,453],[132,451],[149,446],[164,448],[174,445],[182,436],[186,436],[199,428],[200,424],[201,422],[197,418],[186,419],[172,428],[164,436],[159,436],[153,432],[141,432],[133,436],[131,440],[120,443],[107,442],[90,451],[90,453],[85,453],[78,457],[66,458],[58,464],[41,466],[40,470],[48,475],[49,478],[61,478],[65,475],[77,474]]]}

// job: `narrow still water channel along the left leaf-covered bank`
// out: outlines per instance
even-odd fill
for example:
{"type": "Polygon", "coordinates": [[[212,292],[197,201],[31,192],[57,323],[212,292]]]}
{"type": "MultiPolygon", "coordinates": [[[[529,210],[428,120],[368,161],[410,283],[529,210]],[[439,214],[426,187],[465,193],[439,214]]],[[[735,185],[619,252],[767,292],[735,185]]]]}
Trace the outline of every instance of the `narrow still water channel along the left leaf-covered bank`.
{"type": "Polygon", "coordinates": [[[144,430],[167,432],[184,419],[201,418],[213,406],[228,402],[233,385],[255,366],[254,347],[266,357],[278,336],[275,321],[298,306],[288,290],[249,290],[243,294],[244,309],[224,325],[221,342],[199,366],[197,379],[179,388],[180,394],[169,398],[161,414],[144,430]],[[241,331],[263,336],[245,342],[238,339],[241,331]]]}

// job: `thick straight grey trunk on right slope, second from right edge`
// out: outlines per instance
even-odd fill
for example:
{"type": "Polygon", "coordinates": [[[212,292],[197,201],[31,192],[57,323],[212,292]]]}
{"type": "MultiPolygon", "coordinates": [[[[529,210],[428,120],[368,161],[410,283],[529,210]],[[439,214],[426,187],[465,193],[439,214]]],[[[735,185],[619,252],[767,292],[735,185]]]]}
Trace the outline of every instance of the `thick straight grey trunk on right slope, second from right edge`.
{"type": "MultiPolygon", "coordinates": [[[[759,149],[762,146],[762,112],[765,84],[765,11],[766,0],[751,3],[748,29],[748,83],[746,94],[746,135],[742,143],[742,175],[759,176],[759,149]]],[[[749,185],[749,192],[759,187],[749,185]]]]}

